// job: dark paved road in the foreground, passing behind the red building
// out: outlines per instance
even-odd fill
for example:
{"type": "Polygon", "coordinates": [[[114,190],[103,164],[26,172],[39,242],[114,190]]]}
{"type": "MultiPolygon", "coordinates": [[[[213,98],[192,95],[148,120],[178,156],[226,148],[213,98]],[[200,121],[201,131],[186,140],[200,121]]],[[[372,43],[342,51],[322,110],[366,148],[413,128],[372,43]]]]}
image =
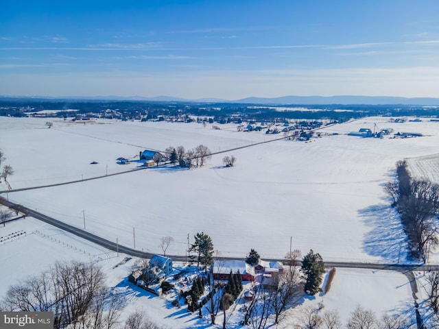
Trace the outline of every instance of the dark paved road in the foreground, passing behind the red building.
{"type": "MultiPolygon", "coordinates": [[[[56,226],[57,228],[60,228],[61,230],[64,230],[66,232],[69,232],[71,234],[75,234],[76,236],[79,236],[82,239],[86,239],[92,243],[96,243],[97,245],[100,245],[102,247],[105,247],[107,249],[110,249],[115,252],[121,252],[123,254],[128,254],[130,256],[135,257],[141,257],[141,258],[151,258],[152,254],[148,252],[141,252],[137,249],[132,249],[130,247],[125,247],[123,245],[119,245],[118,243],[108,241],[106,239],[103,239],[100,236],[97,236],[95,234],[91,234],[90,232],[86,232],[85,230],[81,230],[80,228],[75,228],[74,226],[71,226],[67,223],[63,223],[62,221],[58,221],[52,217],[49,217],[47,215],[44,215],[40,212],[37,212],[36,210],[32,210],[29,208],[26,208],[25,206],[22,206],[20,204],[14,204],[12,202],[8,202],[7,199],[4,197],[0,197],[0,204],[3,204],[3,206],[8,206],[11,209],[19,210],[20,212],[25,213],[26,216],[34,217],[36,219],[39,219],[40,221],[44,221],[45,223],[49,223],[52,226],[56,226]]],[[[173,258],[174,260],[180,260],[184,261],[186,260],[186,256],[180,256],[180,255],[169,255],[169,257],[173,258]]],[[[236,258],[236,257],[222,257],[224,260],[242,260],[242,258],[236,258]]],[[[283,261],[282,258],[278,259],[270,259],[271,260],[278,260],[283,261]]],[[[377,270],[389,270],[389,271],[400,271],[402,273],[409,273],[411,271],[430,271],[430,270],[439,270],[439,265],[413,265],[413,264],[379,264],[379,263],[361,263],[361,262],[325,262],[324,263],[326,267],[348,267],[348,268],[357,268],[357,269],[377,269],[377,270]]]]}

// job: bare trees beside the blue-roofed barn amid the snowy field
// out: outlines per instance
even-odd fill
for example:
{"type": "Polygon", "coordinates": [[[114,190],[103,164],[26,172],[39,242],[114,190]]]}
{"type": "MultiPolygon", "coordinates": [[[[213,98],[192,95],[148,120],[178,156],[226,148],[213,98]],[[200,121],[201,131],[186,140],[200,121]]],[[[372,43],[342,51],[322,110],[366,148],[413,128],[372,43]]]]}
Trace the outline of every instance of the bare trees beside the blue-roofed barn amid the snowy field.
{"type": "Polygon", "coordinates": [[[180,167],[202,167],[206,160],[212,157],[212,152],[206,145],[198,145],[193,149],[185,149],[184,146],[169,146],[165,149],[165,154],[171,163],[178,164],[180,167]]]}

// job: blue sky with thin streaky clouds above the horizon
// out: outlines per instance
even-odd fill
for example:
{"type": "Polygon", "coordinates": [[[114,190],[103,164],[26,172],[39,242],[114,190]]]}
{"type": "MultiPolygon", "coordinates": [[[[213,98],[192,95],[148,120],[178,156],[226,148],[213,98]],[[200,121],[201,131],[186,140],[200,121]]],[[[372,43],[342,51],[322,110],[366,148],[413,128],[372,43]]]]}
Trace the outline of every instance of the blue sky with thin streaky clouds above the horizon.
{"type": "Polygon", "coordinates": [[[439,1],[3,1],[0,95],[439,97],[439,1]]]}

